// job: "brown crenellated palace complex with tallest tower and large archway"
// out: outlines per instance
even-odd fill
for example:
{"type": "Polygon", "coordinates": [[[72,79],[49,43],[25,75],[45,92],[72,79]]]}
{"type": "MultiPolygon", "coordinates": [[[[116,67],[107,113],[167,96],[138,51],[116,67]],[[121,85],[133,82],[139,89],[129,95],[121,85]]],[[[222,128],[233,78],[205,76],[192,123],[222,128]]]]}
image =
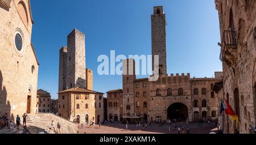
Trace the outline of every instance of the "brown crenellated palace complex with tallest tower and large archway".
{"type": "MultiPolygon", "coordinates": [[[[152,68],[154,56],[159,56],[159,79],[137,79],[134,59],[123,61],[122,101],[121,90],[108,93],[108,119],[142,121],[199,121],[200,118],[218,119],[218,98],[212,91],[214,83],[222,79],[222,72],[215,78],[191,78],[190,74],[167,74],[166,16],[162,6],[154,7],[152,23],[152,68]],[[113,98],[117,96],[117,98],[113,98]],[[122,104],[121,104],[122,102],[122,104]],[[112,104],[117,105],[112,106],[112,104]],[[119,109],[119,110],[118,110],[119,109]],[[122,111],[121,111],[122,110],[122,111]]],[[[154,72],[154,71],[153,71],[154,72]]]]}

